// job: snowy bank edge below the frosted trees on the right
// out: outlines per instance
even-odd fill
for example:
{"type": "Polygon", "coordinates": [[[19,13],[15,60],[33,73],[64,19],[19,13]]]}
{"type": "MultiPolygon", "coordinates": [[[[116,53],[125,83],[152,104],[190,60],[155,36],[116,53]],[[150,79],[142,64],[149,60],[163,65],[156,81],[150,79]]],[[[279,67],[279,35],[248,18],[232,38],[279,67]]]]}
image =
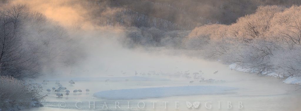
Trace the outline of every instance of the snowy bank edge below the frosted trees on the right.
{"type": "MultiPolygon", "coordinates": [[[[250,68],[243,68],[242,66],[233,63],[229,65],[229,69],[234,69],[237,71],[241,71],[241,72],[251,72],[251,73],[258,73],[255,70],[252,70],[250,68]]],[[[278,75],[275,72],[262,72],[262,75],[266,75],[266,76],[272,76],[272,77],[280,77],[280,78],[284,78],[282,75],[278,75]]],[[[287,83],[287,84],[301,84],[301,77],[300,76],[291,76],[288,77],[287,79],[285,79],[282,83],[287,83]]]]}

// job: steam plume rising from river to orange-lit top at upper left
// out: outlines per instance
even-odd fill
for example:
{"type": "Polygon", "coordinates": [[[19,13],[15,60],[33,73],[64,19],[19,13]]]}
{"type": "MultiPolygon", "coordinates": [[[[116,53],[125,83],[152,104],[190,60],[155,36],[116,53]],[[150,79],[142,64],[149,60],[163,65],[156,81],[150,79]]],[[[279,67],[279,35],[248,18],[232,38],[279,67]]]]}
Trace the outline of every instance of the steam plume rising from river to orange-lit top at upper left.
{"type": "MultiPolygon", "coordinates": [[[[129,49],[124,46],[127,39],[123,27],[100,27],[93,25],[89,16],[89,8],[82,7],[80,1],[51,0],[51,1],[19,1],[14,4],[25,4],[30,10],[44,13],[48,19],[57,21],[73,40],[76,40],[76,51],[69,57],[80,56],[76,64],[57,67],[56,75],[61,76],[134,76],[135,71],[147,73],[149,71],[175,73],[191,70],[198,66],[189,63],[185,57],[171,57],[158,51],[145,51],[142,48],[129,49]],[[76,25],[80,28],[74,29],[76,25]],[[126,74],[122,74],[126,72],[126,74]]],[[[102,14],[114,13],[106,8],[102,14]]],[[[92,9],[91,9],[92,10],[92,9]]],[[[61,66],[61,65],[58,65],[61,66]]],[[[197,72],[199,69],[195,69],[197,72]]]]}

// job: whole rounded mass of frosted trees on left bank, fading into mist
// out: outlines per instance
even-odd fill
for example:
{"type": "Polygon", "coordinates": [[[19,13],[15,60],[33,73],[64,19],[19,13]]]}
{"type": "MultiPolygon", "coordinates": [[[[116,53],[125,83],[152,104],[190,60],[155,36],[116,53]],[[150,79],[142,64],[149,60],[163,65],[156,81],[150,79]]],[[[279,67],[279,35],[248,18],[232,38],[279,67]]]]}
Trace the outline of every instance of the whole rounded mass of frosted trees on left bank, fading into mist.
{"type": "Polygon", "coordinates": [[[64,28],[42,13],[20,4],[0,10],[0,75],[37,78],[58,62],[66,65],[69,46],[64,28]]]}

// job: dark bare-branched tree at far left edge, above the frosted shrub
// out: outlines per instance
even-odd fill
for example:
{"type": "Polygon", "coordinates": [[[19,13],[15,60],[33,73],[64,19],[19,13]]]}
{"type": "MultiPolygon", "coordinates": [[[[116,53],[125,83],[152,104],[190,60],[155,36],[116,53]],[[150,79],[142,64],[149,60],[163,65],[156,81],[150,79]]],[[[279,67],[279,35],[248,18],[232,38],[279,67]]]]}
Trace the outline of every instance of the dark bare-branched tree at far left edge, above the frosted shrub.
{"type": "Polygon", "coordinates": [[[0,10],[0,74],[17,78],[37,77],[40,68],[34,56],[26,52],[23,35],[28,13],[24,5],[0,10]]]}

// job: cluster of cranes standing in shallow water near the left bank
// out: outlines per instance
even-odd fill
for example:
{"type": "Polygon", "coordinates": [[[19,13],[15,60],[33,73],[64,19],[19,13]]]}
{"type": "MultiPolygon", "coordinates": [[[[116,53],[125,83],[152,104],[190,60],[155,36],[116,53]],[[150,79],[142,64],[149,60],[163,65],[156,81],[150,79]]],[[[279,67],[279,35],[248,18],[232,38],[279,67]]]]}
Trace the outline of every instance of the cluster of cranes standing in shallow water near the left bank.
{"type": "MultiPolygon", "coordinates": [[[[49,82],[49,80],[43,80],[42,84],[47,85],[47,82],[49,82]]],[[[70,83],[71,85],[75,84],[75,82],[74,82],[73,80],[70,80],[69,83],[70,83]]],[[[57,86],[59,86],[59,88],[56,89],[55,87],[52,87],[52,91],[54,91],[54,93],[57,92],[56,95],[57,95],[58,97],[61,97],[61,96],[63,96],[63,94],[62,94],[62,93],[59,93],[59,92],[65,90],[66,95],[67,95],[67,97],[68,97],[68,95],[70,94],[70,91],[69,91],[66,87],[63,87],[63,85],[60,83],[59,80],[56,80],[55,84],[57,84],[57,86]]],[[[50,92],[51,92],[51,89],[46,89],[46,91],[48,91],[48,93],[50,93],[50,92]]],[[[81,90],[81,89],[75,89],[75,90],[73,90],[73,93],[76,93],[76,92],[82,93],[82,90],[81,90]]],[[[89,89],[86,89],[86,92],[88,93],[88,92],[90,92],[90,90],[89,90],[89,89]]]]}

